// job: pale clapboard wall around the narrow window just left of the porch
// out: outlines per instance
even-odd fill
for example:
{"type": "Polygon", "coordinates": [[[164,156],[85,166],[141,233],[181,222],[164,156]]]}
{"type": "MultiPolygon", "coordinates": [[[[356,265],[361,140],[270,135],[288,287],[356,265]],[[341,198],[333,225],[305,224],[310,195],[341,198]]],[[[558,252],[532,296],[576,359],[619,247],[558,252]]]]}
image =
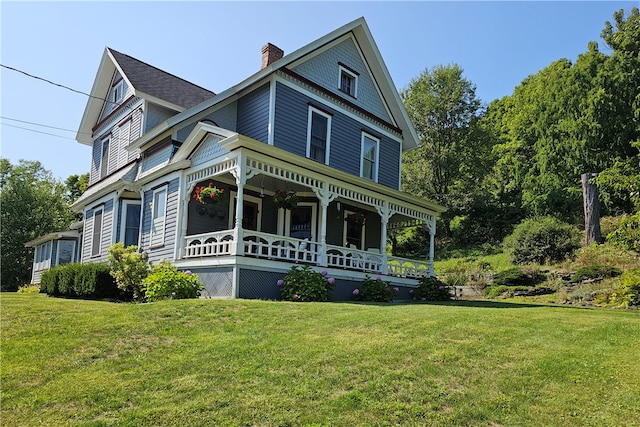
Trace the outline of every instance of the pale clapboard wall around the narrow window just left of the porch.
{"type": "Polygon", "coordinates": [[[167,207],[164,225],[164,245],[161,247],[150,247],[151,243],[151,204],[153,201],[153,190],[144,192],[142,201],[142,236],[140,246],[149,254],[149,261],[157,263],[163,259],[173,261],[176,231],[178,227],[178,178],[173,179],[167,185],[167,207]]]}

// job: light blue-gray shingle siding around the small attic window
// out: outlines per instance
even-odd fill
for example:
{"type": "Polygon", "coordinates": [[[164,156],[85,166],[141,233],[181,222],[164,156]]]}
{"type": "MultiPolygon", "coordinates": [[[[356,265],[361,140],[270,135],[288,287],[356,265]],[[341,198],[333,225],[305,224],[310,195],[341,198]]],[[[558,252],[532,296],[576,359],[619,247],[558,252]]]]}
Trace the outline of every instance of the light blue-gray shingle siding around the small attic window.
{"type": "Polygon", "coordinates": [[[298,65],[293,71],[348,99],[357,106],[371,111],[376,116],[391,121],[385,103],[378,93],[376,83],[369,74],[366,64],[362,61],[353,39],[342,41],[331,49],[298,65]],[[338,89],[339,62],[359,73],[357,98],[352,98],[338,89]]]}

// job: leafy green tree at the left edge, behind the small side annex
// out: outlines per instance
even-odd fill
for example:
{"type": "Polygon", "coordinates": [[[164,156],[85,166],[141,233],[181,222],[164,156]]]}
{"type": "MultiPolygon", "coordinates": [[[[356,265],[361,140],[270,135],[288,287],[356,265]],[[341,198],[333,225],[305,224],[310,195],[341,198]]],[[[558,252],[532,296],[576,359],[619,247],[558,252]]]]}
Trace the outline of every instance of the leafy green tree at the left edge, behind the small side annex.
{"type": "Polygon", "coordinates": [[[73,220],[66,188],[40,162],[0,159],[1,290],[13,291],[31,279],[33,250],[24,244],[65,230],[73,220]]]}

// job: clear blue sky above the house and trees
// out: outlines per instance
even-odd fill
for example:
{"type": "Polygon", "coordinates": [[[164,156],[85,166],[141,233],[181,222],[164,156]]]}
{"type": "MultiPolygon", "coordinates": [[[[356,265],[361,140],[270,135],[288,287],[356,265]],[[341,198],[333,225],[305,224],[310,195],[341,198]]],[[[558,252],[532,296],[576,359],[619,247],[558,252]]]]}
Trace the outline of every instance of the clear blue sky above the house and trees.
{"type": "MultiPolygon", "coordinates": [[[[634,6],[635,1],[2,0],[0,63],[88,93],[108,46],[221,92],[258,71],[265,43],[290,53],[363,16],[398,89],[425,68],[457,63],[489,103],[551,62],[575,60],[591,40],[608,53],[600,39],[605,21],[634,6]]],[[[74,140],[87,97],[6,68],[0,73],[0,156],[12,163],[39,160],[58,179],[87,172],[90,148],[74,140]]]]}

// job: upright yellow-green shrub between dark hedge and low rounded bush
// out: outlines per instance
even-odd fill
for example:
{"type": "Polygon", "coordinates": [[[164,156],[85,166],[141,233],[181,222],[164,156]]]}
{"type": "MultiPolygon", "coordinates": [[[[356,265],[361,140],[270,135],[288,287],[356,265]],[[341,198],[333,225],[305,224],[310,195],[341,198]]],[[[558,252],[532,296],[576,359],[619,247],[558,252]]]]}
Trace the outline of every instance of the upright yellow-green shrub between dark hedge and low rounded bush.
{"type": "Polygon", "coordinates": [[[131,293],[136,301],[143,300],[142,280],[149,274],[147,253],[138,252],[135,245],[125,247],[122,242],[118,242],[109,247],[107,260],[118,288],[131,293]]]}

